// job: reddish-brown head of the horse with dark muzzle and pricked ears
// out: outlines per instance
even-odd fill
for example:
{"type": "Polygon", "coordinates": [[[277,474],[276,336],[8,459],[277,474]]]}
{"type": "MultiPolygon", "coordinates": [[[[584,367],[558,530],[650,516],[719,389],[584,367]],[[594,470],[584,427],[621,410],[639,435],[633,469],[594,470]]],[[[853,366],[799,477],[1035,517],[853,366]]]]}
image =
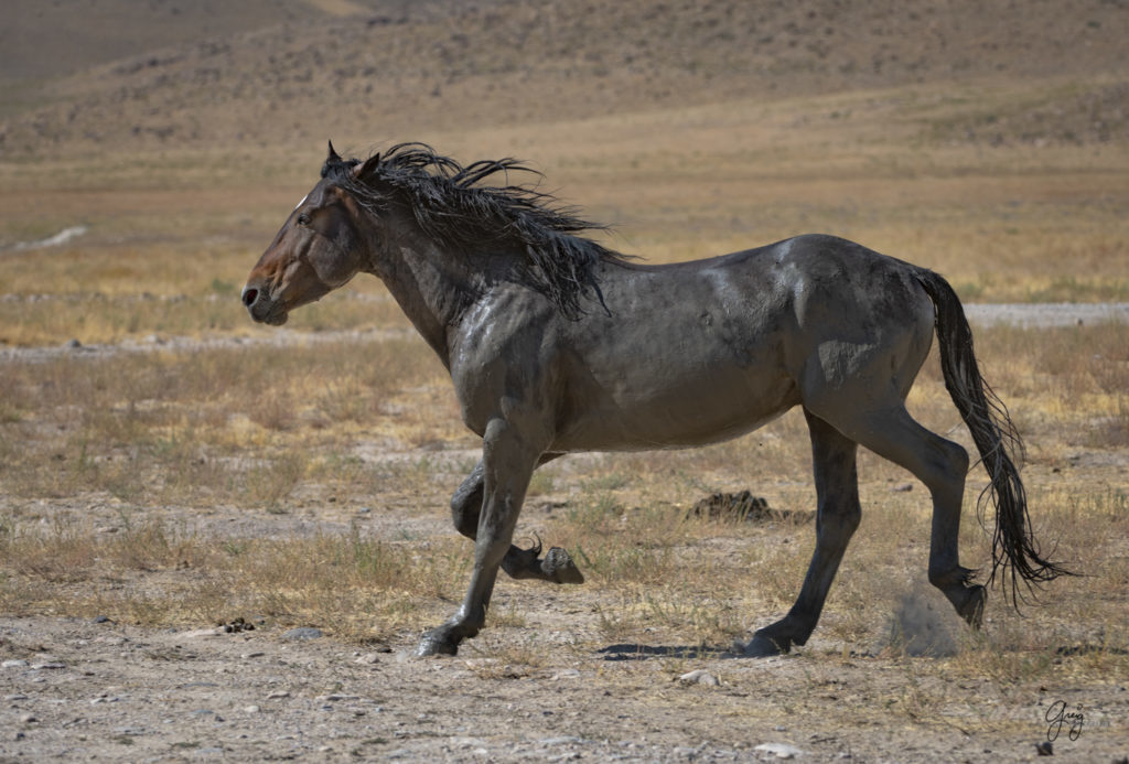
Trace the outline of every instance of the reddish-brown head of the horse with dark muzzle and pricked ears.
{"type": "Polygon", "coordinates": [[[333,150],[322,179],[287,218],[251,270],[243,304],[256,322],[279,326],[290,310],[321,299],[367,269],[369,236],[357,200],[335,179],[341,170],[360,177],[366,163],[344,160],[333,150]]]}

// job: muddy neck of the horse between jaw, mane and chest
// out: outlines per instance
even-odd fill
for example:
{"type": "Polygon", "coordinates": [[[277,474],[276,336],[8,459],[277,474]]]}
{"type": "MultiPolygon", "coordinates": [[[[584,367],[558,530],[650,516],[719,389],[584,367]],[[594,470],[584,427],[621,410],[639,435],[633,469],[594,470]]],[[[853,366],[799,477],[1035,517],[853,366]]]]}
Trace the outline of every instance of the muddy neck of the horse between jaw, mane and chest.
{"type": "Polygon", "coordinates": [[[463,258],[423,237],[401,237],[390,247],[392,262],[377,269],[400,308],[449,368],[448,331],[481,291],[482,278],[463,258]]]}

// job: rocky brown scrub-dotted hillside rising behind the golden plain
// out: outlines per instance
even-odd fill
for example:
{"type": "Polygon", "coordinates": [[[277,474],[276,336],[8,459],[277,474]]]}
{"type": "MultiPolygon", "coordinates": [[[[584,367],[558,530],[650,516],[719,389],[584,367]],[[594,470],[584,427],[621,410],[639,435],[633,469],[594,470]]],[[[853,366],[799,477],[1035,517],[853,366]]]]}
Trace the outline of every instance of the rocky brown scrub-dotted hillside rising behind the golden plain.
{"type": "Polygon", "coordinates": [[[974,81],[1015,82],[1025,95],[987,112],[961,104],[930,139],[1129,134],[1124,0],[254,0],[193,6],[178,37],[154,32],[167,27],[158,17],[134,35],[95,12],[99,3],[61,5],[68,29],[91,30],[82,42],[89,65],[44,81],[50,68],[6,51],[6,73],[25,76],[0,88],[0,159],[308,146],[327,135],[367,146],[467,126],[974,81]]]}

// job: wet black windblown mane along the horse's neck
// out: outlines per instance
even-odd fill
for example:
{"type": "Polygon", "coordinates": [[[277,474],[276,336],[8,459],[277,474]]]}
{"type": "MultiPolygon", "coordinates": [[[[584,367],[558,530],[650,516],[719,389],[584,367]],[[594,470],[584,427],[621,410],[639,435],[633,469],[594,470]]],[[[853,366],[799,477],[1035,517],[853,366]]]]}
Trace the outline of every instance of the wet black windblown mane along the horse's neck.
{"type": "Polygon", "coordinates": [[[517,159],[481,160],[463,167],[423,143],[399,143],[357,178],[357,159],[330,159],[322,177],[331,177],[373,209],[388,202],[392,187],[411,208],[423,232],[435,242],[469,254],[501,248],[524,255],[518,278],[551,299],[566,316],[584,313],[580,298],[588,291],[602,300],[596,279],[601,262],[625,257],[578,236],[605,227],[557,207],[551,195],[509,182],[510,172],[541,174],[517,159]],[[488,181],[501,176],[502,185],[488,181]]]}

